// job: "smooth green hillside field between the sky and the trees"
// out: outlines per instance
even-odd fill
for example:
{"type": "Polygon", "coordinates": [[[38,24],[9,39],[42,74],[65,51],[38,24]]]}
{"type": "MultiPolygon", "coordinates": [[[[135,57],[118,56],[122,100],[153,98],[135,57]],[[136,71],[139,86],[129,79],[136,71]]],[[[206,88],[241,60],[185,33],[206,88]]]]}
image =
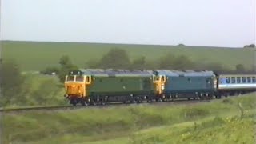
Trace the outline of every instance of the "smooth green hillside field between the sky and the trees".
{"type": "Polygon", "coordinates": [[[59,58],[67,54],[74,64],[83,68],[89,59],[102,58],[114,47],[125,49],[131,59],[145,56],[146,60],[157,61],[167,53],[186,55],[194,62],[221,62],[234,69],[237,64],[246,68],[254,65],[254,49],[234,49],[199,46],[146,46],[69,42],[8,42],[2,45],[2,58],[14,58],[22,70],[44,70],[46,66],[57,66],[59,58]]]}

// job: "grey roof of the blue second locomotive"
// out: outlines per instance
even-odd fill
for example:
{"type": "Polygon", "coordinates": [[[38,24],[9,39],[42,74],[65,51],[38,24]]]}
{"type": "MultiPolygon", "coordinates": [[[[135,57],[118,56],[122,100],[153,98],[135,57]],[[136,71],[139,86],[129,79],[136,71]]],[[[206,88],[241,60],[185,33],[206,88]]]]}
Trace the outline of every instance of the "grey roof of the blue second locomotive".
{"type": "Polygon", "coordinates": [[[213,71],[194,71],[194,70],[154,70],[154,74],[166,75],[166,76],[185,76],[185,77],[211,77],[214,75],[213,71]]]}

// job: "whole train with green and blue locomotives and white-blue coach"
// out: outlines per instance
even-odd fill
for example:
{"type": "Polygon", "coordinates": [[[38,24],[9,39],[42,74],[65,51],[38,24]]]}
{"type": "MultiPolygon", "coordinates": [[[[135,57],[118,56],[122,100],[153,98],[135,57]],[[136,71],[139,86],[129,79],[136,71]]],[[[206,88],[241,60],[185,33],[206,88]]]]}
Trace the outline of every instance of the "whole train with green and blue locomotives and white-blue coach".
{"type": "Polygon", "coordinates": [[[71,105],[210,99],[256,91],[256,73],[210,70],[73,70],[65,78],[71,105]]]}

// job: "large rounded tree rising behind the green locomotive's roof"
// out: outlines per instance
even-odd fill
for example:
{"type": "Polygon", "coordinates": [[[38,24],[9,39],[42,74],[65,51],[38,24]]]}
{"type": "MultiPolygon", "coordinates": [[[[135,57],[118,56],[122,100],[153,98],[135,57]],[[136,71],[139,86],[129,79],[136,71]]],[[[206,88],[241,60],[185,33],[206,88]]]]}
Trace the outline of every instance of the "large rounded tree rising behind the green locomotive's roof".
{"type": "Polygon", "coordinates": [[[103,69],[129,69],[130,59],[126,50],[114,48],[103,55],[99,62],[99,66],[103,69]]]}

